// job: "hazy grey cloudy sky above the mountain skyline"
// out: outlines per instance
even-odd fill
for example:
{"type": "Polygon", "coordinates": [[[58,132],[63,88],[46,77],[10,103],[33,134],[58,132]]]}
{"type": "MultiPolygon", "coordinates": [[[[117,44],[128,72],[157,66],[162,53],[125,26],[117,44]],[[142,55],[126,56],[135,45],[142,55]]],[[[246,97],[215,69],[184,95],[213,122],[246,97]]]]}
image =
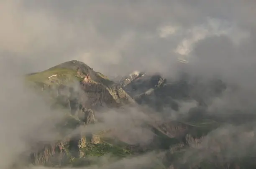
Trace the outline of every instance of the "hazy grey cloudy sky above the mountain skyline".
{"type": "Polygon", "coordinates": [[[26,72],[81,60],[107,75],[175,72],[183,57],[199,72],[230,75],[256,63],[255,8],[253,0],[1,0],[0,56],[26,72]]]}

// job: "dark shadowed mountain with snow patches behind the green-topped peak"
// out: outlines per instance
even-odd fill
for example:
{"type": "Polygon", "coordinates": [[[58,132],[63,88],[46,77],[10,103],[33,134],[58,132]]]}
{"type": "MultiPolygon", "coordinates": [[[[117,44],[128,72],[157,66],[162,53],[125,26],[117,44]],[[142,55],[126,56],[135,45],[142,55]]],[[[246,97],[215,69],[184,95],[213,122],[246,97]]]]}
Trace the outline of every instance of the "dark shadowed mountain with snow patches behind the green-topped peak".
{"type": "Polygon", "coordinates": [[[165,79],[159,74],[133,79],[123,89],[138,104],[146,104],[158,112],[166,108],[179,111],[179,102],[193,100],[198,106],[207,107],[213,98],[220,96],[226,85],[218,79],[203,79],[182,74],[176,80],[165,79]]]}

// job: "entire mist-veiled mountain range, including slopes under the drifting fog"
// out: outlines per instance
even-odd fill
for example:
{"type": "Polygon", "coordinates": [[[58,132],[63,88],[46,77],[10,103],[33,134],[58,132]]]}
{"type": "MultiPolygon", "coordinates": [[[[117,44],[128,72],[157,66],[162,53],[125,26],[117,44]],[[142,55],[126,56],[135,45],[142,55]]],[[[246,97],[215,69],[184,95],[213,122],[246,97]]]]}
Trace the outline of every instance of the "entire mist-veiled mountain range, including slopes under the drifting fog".
{"type": "Polygon", "coordinates": [[[135,71],[111,80],[72,60],[28,74],[25,82],[51,109],[63,112],[54,122],[56,140],[31,144],[22,154],[25,166],[102,167],[107,158],[105,168],[121,168],[121,160],[145,157],[145,164],[131,168],[256,167],[255,116],[220,116],[209,108],[230,88],[220,79],[135,71]],[[228,127],[233,132],[222,132],[228,127]],[[240,153],[241,142],[246,154],[240,153]]]}

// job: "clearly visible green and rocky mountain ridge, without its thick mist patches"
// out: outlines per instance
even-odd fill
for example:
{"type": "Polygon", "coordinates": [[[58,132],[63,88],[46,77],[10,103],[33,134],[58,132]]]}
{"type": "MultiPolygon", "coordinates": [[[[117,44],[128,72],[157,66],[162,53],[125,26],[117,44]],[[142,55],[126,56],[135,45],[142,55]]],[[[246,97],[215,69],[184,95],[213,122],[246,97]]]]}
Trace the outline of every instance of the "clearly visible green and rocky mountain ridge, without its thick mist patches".
{"type": "MultiPolygon", "coordinates": [[[[220,80],[213,80],[209,84],[200,81],[189,82],[186,78],[169,82],[160,74],[147,75],[137,71],[114,82],[83,62],[72,60],[42,72],[26,75],[26,82],[43,93],[49,93],[48,96],[53,100],[51,107],[62,107],[69,112],[56,124],[63,139],[55,143],[41,144],[39,147],[42,148],[32,152],[30,157],[34,165],[88,166],[95,164],[95,161],[89,158],[91,156],[101,157],[112,153],[118,158],[123,158],[152,150],[167,151],[161,159],[165,168],[210,169],[209,166],[203,167],[209,162],[218,165],[219,169],[227,163],[241,165],[232,160],[220,163],[212,159],[212,156],[209,159],[197,159],[195,162],[182,162],[177,159],[177,154],[188,150],[205,151],[205,145],[202,144],[207,134],[226,125],[207,114],[206,109],[209,102],[207,100],[210,97],[218,97],[226,89],[226,85],[220,80]],[[200,92],[196,92],[198,89],[200,92]],[[180,102],[187,100],[196,100],[197,106],[189,109],[184,116],[178,112],[180,102]],[[136,115],[132,121],[138,121],[139,128],[154,133],[150,144],[139,145],[125,141],[129,139],[129,135],[121,134],[123,138],[120,138],[118,126],[115,126],[117,130],[110,127],[98,132],[83,132],[90,126],[101,124],[100,116],[106,109],[118,110],[118,114],[122,115],[122,111],[127,114],[125,112],[133,111],[133,108],[142,111],[146,119],[140,119],[136,115]],[[165,118],[164,114],[168,112],[175,114],[176,119],[157,120],[156,117],[165,118]],[[79,132],[75,135],[67,132],[72,130],[79,132]]],[[[213,155],[222,156],[219,151],[222,144],[211,143],[207,146],[218,149],[211,152],[213,155]]]]}

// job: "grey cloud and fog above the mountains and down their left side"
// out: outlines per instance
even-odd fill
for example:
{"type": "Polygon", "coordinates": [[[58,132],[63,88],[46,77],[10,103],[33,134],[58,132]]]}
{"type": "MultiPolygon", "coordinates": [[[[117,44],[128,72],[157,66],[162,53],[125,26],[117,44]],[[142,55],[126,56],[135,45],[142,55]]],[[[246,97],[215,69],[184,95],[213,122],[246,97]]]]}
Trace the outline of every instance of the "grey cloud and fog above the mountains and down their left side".
{"type": "MultiPolygon", "coordinates": [[[[51,112],[18,85],[20,75],[68,60],[106,75],[144,70],[171,77],[179,72],[177,60],[186,60],[191,75],[221,77],[241,88],[227,91],[211,109],[253,110],[255,7],[253,0],[0,0],[0,128],[10,138],[0,143],[1,167],[26,149],[26,141],[15,140],[33,135],[38,119],[50,115],[33,112],[51,112]],[[14,145],[6,155],[5,147],[14,145]]],[[[52,139],[46,131],[38,139],[52,139]]]]}

